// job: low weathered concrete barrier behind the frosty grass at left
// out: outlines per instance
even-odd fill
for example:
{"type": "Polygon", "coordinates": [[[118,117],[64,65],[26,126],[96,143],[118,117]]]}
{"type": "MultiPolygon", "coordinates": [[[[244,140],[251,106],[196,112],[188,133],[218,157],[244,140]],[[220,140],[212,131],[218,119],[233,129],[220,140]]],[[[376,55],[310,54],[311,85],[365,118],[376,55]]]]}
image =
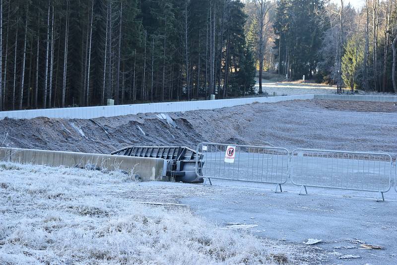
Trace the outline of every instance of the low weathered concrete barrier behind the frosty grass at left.
{"type": "Polygon", "coordinates": [[[0,148],[0,159],[20,164],[85,167],[92,165],[107,170],[125,170],[138,174],[142,181],[161,181],[164,159],[48,151],[21,148],[0,148]]]}

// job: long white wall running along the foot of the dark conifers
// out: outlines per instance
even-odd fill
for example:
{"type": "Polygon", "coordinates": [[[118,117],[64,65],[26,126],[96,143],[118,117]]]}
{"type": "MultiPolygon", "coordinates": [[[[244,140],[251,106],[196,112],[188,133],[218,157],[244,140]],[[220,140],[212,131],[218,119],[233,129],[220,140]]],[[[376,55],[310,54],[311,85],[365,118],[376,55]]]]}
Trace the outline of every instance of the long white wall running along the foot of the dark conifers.
{"type": "Polygon", "coordinates": [[[0,112],[0,120],[4,118],[32,119],[37,117],[58,118],[58,119],[94,119],[99,117],[115,117],[138,113],[165,113],[192,110],[212,110],[224,107],[233,107],[254,102],[273,103],[295,99],[313,99],[314,95],[278,96],[278,97],[253,97],[236,99],[218,99],[203,101],[181,101],[164,103],[147,103],[117,106],[79,107],[62,109],[41,109],[22,111],[0,112]]]}

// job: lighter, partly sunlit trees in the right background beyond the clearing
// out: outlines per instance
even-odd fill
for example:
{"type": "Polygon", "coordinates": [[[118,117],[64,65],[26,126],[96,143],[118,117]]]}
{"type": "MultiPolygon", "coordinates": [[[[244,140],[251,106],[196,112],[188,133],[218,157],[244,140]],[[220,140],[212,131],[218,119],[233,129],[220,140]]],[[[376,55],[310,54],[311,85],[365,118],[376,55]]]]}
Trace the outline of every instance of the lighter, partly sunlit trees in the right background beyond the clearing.
{"type": "MultiPolygon", "coordinates": [[[[263,2],[248,1],[247,10],[255,14],[263,2]]],[[[335,84],[338,92],[397,93],[396,0],[366,0],[359,8],[347,0],[277,0],[266,5],[265,68],[292,79],[306,75],[335,84]]],[[[247,37],[255,43],[258,22],[249,23],[247,37]]]]}

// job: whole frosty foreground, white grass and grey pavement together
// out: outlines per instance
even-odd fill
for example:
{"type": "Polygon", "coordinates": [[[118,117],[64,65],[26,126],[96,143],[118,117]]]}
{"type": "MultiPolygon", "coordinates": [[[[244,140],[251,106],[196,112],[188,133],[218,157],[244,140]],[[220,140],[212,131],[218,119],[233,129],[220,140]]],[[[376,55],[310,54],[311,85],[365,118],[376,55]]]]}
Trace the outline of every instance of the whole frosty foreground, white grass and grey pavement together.
{"type": "Polygon", "coordinates": [[[275,194],[269,185],[135,182],[10,163],[0,164],[0,180],[0,263],[397,262],[394,193],[376,202],[374,194],[313,188],[300,196],[290,185],[275,194]],[[309,238],[322,242],[302,244],[309,238]]]}

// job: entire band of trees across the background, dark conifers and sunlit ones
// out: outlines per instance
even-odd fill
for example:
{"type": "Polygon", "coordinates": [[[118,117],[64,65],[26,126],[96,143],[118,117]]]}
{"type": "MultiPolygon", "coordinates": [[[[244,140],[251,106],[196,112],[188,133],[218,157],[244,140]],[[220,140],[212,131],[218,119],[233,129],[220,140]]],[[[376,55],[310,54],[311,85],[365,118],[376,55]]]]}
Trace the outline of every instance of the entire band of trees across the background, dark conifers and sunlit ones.
{"type": "Polygon", "coordinates": [[[244,96],[257,71],[392,92],[396,6],[0,0],[0,110],[244,96]]]}

